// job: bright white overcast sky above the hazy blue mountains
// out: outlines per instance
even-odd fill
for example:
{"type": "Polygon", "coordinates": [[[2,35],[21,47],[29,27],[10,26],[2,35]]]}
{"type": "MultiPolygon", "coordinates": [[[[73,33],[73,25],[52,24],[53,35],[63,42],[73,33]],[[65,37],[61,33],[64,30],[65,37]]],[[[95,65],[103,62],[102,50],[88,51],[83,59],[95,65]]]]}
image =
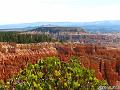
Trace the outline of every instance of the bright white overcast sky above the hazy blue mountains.
{"type": "Polygon", "coordinates": [[[120,0],[0,0],[0,24],[120,20],[120,0]]]}

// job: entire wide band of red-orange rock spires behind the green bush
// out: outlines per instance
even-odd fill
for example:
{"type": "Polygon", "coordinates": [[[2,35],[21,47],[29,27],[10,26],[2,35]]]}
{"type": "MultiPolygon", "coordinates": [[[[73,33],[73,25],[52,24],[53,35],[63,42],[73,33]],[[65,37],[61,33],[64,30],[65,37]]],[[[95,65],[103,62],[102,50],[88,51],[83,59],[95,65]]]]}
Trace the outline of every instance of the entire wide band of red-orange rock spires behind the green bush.
{"type": "Polygon", "coordinates": [[[38,59],[57,56],[66,61],[77,56],[83,67],[95,70],[99,80],[109,85],[120,85],[120,50],[80,43],[0,43],[0,79],[6,80],[38,59]]]}

